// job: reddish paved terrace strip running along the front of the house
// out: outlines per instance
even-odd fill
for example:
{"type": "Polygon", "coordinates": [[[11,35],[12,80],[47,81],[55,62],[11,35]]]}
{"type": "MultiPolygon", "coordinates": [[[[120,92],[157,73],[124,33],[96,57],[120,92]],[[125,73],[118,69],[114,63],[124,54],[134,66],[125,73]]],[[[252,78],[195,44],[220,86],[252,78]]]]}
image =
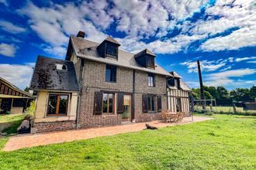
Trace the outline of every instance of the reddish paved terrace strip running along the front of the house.
{"type": "MultiPolygon", "coordinates": [[[[212,118],[209,117],[194,117],[192,121],[191,117],[185,117],[182,122],[177,124],[190,124],[198,121],[207,121],[212,118]]],[[[81,130],[70,130],[70,131],[55,131],[41,134],[19,134],[13,136],[6,143],[3,151],[15,151],[20,148],[30,148],[39,145],[50,145],[57,144],[67,141],[78,141],[83,139],[101,137],[101,136],[110,136],[114,134],[123,134],[133,131],[142,131],[145,128],[145,124],[150,124],[157,128],[163,128],[168,126],[175,126],[175,123],[164,123],[162,121],[151,121],[144,123],[136,124],[123,124],[111,127],[102,127],[102,128],[88,128],[81,130]]]]}

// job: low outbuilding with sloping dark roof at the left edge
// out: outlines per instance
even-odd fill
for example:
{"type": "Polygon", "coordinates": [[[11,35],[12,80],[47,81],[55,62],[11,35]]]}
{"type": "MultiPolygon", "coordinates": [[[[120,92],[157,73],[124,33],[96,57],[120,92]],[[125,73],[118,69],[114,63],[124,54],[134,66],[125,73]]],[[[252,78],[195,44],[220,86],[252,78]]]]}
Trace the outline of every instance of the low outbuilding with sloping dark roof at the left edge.
{"type": "Polygon", "coordinates": [[[33,96],[0,77],[0,114],[22,114],[33,96]]]}

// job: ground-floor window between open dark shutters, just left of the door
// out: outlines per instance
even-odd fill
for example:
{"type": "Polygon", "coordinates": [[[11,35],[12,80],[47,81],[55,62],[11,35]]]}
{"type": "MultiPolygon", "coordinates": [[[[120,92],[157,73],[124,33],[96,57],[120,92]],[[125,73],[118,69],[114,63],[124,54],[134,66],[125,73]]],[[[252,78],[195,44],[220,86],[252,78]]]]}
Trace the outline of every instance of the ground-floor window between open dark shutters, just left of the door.
{"type": "Polygon", "coordinates": [[[113,103],[114,103],[114,93],[103,93],[102,100],[102,113],[112,114],[114,113],[113,103]]]}

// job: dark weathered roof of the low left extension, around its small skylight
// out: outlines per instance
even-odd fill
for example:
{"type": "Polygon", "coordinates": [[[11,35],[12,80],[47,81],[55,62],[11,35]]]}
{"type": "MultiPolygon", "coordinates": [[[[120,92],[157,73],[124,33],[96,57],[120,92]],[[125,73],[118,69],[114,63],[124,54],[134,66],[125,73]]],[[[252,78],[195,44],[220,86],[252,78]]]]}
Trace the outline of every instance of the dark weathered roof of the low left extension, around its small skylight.
{"type": "Polygon", "coordinates": [[[33,90],[78,91],[73,62],[38,56],[30,88],[33,90]],[[67,66],[67,70],[57,70],[56,64],[67,66]]]}

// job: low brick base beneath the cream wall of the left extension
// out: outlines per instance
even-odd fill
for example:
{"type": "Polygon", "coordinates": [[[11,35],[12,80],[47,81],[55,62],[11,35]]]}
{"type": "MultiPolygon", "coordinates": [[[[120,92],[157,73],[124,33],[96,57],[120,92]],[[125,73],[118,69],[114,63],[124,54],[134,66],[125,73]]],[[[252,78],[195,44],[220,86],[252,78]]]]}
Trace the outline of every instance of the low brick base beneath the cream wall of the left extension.
{"type": "Polygon", "coordinates": [[[32,127],[33,133],[48,132],[48,131],[64,131],[75,128],[75,121],[57,121],[57,122],[42,122],[35,123],[32,127]]]}

